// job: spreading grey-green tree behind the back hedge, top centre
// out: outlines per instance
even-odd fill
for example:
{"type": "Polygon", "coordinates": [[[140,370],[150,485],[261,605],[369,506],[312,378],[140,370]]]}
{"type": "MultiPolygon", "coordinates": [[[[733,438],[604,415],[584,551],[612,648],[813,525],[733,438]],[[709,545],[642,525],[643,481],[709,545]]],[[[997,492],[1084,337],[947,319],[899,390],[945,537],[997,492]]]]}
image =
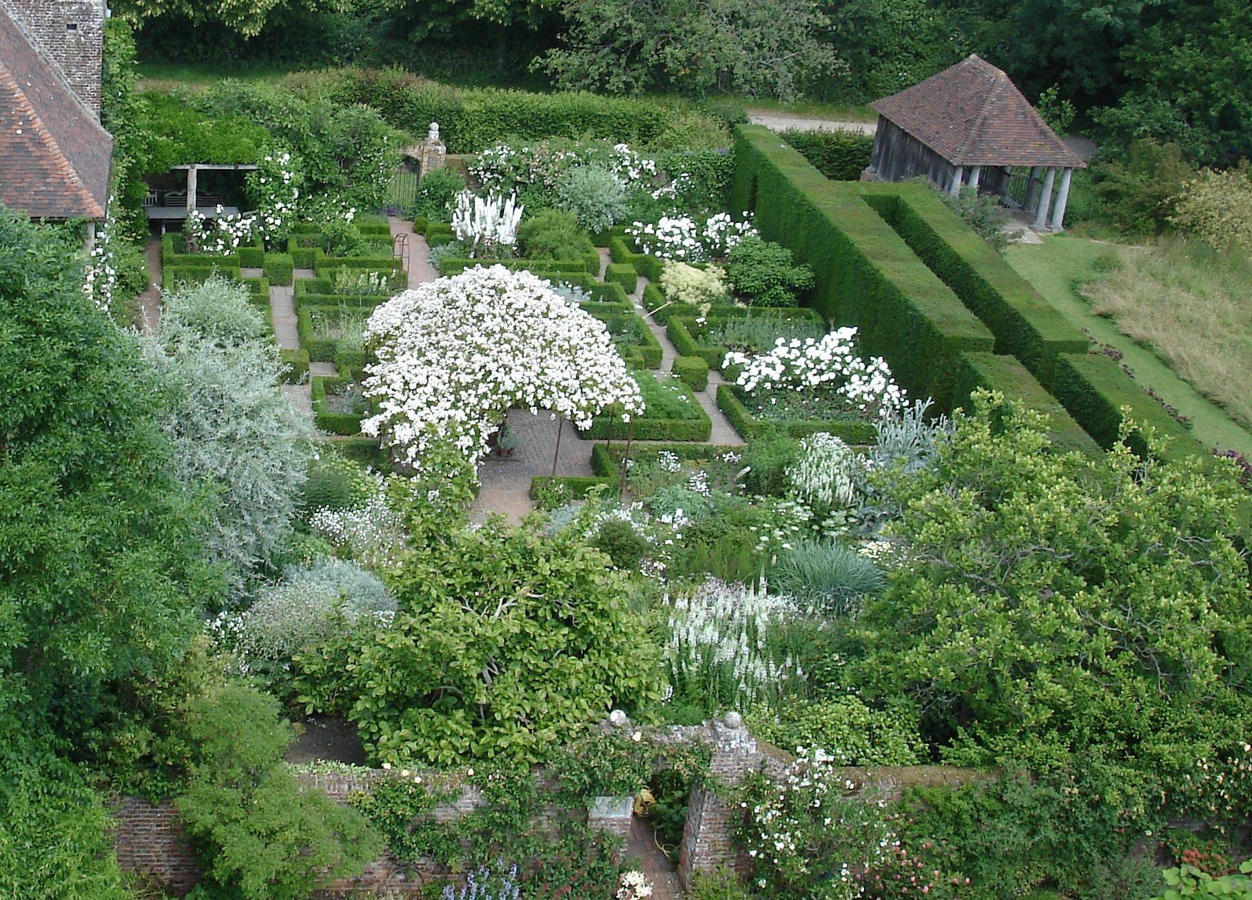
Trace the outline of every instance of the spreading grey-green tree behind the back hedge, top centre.
{"type": "Polygon", "coordinates": [[[798,96],[834,66],[805,0],[570,0],[563,45],[536,59],[563,88],[798,96]]]}

